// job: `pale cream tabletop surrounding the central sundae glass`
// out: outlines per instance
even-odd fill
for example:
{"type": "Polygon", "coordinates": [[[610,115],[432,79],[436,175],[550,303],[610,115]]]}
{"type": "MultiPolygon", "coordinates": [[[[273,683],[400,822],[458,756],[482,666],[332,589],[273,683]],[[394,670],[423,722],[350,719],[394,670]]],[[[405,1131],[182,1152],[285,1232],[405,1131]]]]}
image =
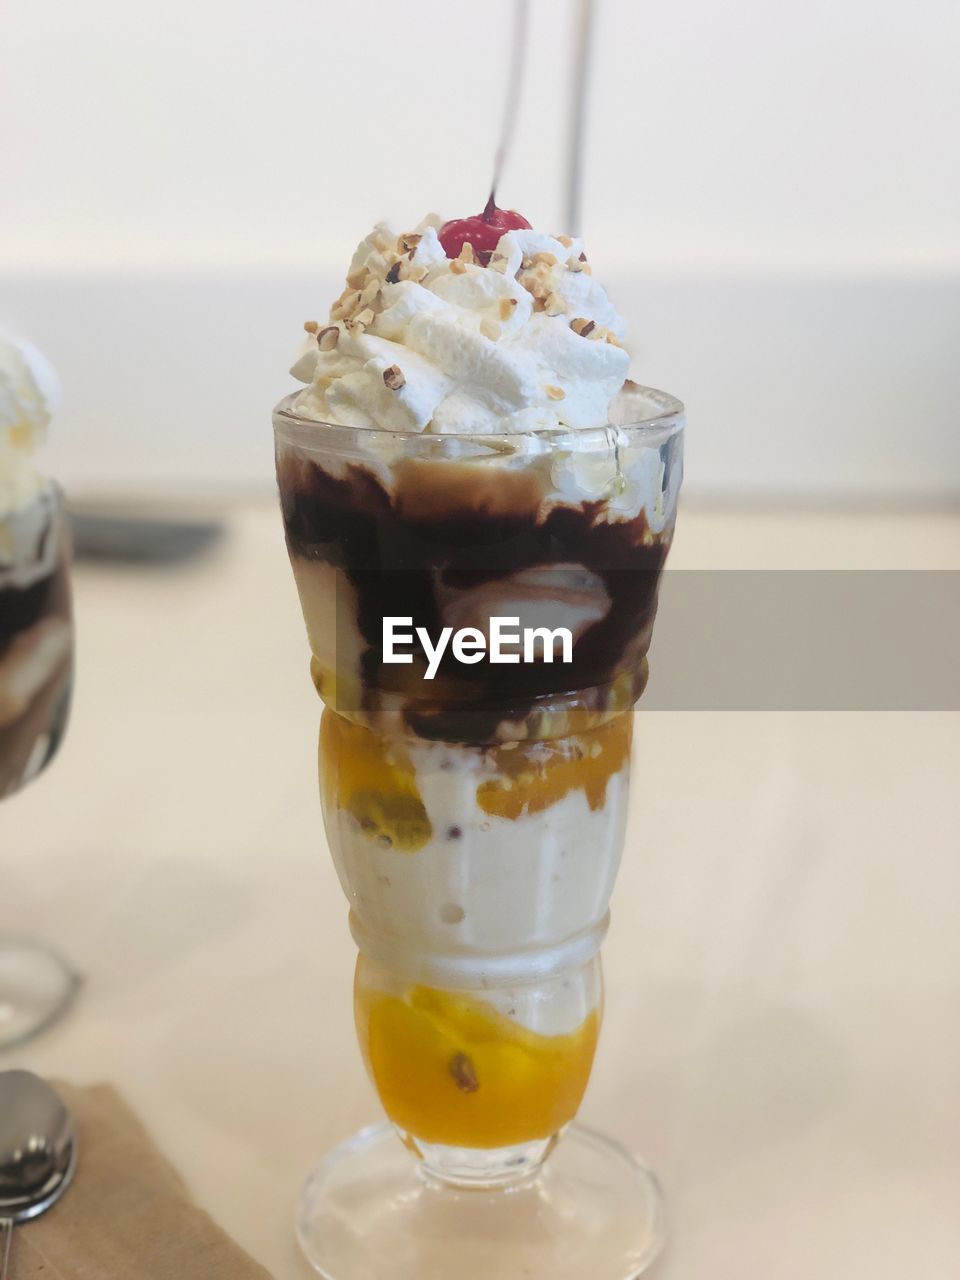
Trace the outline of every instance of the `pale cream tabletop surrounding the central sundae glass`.
{"type": "MultiPolygon", "coordinates": [[[[956,568],[960,518],[692,508],[673,563],[956,568]]],[[[118,1084],[302,1280],[300,1180],[379,1111],[276,512],[236,509],[192,566],[83,564],[76,593],[73,723],[0,810],[0,929],[86,984],[0,1066],[118,1084]]],[[[960,716],[663,712],[637,737],[582,1119],[666,1184],[655,1275],[956,1280],[960,716]]]]}

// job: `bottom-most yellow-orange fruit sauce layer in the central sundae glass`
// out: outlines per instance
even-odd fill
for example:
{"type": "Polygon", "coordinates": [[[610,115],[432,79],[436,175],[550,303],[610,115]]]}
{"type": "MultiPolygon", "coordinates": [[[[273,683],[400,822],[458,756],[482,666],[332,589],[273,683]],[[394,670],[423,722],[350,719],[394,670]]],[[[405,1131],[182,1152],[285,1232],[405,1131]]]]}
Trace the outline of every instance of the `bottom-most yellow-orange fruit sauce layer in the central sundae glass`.
{"type": "Polygon", "coordinates": [[[360,1043],[387,1115],[421,1142],[509,1147],[571,1121],[590,1078],[600,1012],[540,1036],[492,1005],[431,987],[355,988],[360,1043]]]}

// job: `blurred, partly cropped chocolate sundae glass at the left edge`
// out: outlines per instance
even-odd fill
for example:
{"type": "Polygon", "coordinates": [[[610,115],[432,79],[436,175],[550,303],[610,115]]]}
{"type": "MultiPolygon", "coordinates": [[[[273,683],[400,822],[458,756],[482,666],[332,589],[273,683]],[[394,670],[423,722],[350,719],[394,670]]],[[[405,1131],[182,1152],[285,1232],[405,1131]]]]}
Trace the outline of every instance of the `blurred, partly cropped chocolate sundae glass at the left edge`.
{"type": "MultiPolygon", "coordinates": [[[[40,352],[0,335],[0,800],[52,759],[70,704],[69,535],[60,490],[32,465],[55,394],[40,352]]],[[[15,840],[0,835],[0,850],[15,856],[15,840]]],[[[4,922],[0,1048],[51,1023],[76,987],[56,951],[4,922]]]]}

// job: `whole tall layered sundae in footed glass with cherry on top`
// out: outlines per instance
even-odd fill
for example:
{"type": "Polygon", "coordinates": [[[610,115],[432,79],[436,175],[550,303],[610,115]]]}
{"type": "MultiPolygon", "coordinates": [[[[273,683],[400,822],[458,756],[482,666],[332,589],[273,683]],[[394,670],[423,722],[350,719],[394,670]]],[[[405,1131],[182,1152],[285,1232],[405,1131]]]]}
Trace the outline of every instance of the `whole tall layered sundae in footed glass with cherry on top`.
{"type": "Polygon", "coordinates": [[[392,1128],[315,1170],[301,1244],[332,1280],[627,1280],[655,1181],[571,1123],[682,406],[626,379],[581,243],[492,206],[378,227],[306,328],[276,472],[392,1128]]]}

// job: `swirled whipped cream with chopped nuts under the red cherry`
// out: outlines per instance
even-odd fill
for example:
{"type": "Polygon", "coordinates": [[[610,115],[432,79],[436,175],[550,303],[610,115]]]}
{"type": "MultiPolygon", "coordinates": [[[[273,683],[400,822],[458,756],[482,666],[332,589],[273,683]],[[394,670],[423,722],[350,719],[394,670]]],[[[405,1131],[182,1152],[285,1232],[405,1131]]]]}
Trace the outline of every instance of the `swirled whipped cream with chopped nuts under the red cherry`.
{"type": "Polygon", "coordinates": [[[582,243],[511,230],[489,265],[448,259],[430,216],[357,247],[328,325],[291,372],[297,412],[388,431],[489,435],[608,421],[630,357],[582,243]]]}

